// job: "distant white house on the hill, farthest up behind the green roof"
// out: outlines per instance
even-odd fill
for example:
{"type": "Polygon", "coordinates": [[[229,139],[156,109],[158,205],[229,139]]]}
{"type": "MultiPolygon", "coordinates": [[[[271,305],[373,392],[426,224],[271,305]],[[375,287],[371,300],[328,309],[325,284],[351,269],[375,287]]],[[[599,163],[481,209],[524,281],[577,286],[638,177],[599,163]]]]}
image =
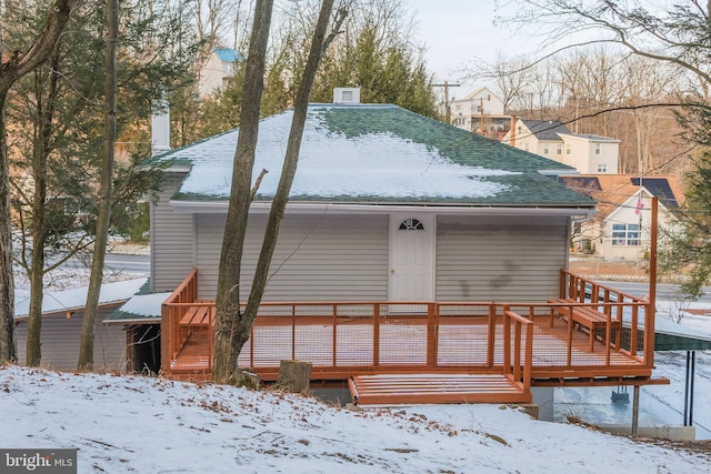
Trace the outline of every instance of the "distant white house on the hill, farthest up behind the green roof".
{"type": "Polygon", "coordinates": [[[511,117],[504,114],[503,101],[488,88],[452,100],[450,111],[452,125],[494,140],[500,140],[511,123],[511,117]]]}

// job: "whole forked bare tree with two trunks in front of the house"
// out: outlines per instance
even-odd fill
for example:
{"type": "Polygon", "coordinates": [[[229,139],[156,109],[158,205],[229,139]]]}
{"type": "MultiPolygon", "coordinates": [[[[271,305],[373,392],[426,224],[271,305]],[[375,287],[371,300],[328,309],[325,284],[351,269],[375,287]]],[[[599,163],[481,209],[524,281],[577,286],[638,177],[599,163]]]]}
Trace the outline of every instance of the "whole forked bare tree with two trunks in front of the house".
{"type": "MultiPolygon", "coordinates": [[[[244,97],[252,100],[246,101],[246,105],[242,107],[240,135],[232,172],[230,206],[220,259],[213,363],[213,380],[218,383],[238,379],[237,361],[242,346],[249,340],[267,285],[269,266],[277,245],[279,224],[286,211],[291,183],[297,170],[311,87],[323,52],[338,33],[347,13],[346,9],[339,10],[336,28],[333,32],[327,36],[333,1],[323,0],[321,3],[309,58],[297,92],[281,179],[269,213],[250,295],[242,311],[239,295],[240,265],[249,205],[256,192],[256,189],[251,189],[251,177],[259,127],[259,99],[263,81],[267,33],[271,16],[271,0],[257,2],[244,83],[244,97]]],[[[258,183],[259,180],[257,185],[258,183]]]]}

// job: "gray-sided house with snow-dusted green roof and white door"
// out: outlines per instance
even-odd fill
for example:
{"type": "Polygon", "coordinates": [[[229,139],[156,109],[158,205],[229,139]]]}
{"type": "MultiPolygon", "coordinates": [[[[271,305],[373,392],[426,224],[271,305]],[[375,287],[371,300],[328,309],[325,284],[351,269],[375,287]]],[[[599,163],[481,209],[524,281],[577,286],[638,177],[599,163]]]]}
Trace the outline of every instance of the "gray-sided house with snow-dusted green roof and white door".
{"type": "MultiPolygon", "coordinates": [[[[260,123],[240,291],[247,296],[292,110],[260,123]]],[[[151,293],[194,269],[213,301],[239,129],[160,154],[151,204],[151,293]]],[[[559,294],[571,223],[594,201],[574,170],[391,104],[309,107],[264,302],[545,301],[559,294]]],[[[158,324],[160,306],[127,311],[158,324]]],[[[162,335],[164,337],[164,335],[162,335]]]]}

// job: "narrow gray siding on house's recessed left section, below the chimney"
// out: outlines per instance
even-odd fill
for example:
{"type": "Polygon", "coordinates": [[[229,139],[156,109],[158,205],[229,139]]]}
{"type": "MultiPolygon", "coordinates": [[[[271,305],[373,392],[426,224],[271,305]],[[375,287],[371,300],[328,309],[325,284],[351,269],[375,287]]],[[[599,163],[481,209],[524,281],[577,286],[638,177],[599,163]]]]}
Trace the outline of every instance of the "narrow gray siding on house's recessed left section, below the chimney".
{"type": "Polygon", "coordinates": [[[163,190],[151,206],[151,288],[172,291],[184,280],[193,262],[193,214],[178,214],[170,196],[184,173],[167,175],[163,190]]]}

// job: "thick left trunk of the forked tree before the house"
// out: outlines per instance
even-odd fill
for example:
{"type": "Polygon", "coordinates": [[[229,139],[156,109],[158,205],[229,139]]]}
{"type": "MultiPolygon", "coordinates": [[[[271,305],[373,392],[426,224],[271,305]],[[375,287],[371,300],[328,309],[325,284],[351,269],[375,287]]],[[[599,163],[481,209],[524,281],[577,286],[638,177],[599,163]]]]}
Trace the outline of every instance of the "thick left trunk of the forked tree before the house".
{"type": "MultiPolygon", "coordinates": [[[[251,180],[259,132],[260,99],[264,88],[264,61],[272,0],[258,0],[247,58],[244,103],[240,112],[240,134],[234,152],[232,188],[227,214],[220,272],[218,278],[212,376],[217,383],[229,382],[237,371],[237,357],[244,335],[238,334],[240,319],[240,273],[251,203],[251,180]],[[241,343],[239,341],[242,341],[241,343]]],[[[247,333],[249,337],[249,332],[247,333]]]]}

